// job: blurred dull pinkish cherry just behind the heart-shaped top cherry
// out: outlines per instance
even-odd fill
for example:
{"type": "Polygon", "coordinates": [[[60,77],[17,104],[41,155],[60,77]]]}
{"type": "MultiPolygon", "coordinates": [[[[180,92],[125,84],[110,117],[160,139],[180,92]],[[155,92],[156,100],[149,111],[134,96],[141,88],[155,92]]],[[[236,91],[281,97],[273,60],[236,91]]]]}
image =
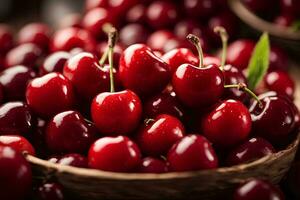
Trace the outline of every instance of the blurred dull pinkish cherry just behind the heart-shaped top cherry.
{"type": "Polygon", "coordinates": [[[120,30],[120,42],[125,46],[146,43],[148,30],[140,24],[127,24],[120,30]]]}

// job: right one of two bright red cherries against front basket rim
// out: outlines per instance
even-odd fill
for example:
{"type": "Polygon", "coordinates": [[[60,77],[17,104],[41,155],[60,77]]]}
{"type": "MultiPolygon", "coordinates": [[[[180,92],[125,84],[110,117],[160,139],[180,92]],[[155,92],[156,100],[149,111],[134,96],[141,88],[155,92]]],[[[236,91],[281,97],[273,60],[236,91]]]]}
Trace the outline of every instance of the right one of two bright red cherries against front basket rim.
{"type": "Polygon", "coordinates": [[[218,167],[218,158],[210,142],[201,135],[190,134],[170,149],[170,171],[196,171],[218,167]]]}

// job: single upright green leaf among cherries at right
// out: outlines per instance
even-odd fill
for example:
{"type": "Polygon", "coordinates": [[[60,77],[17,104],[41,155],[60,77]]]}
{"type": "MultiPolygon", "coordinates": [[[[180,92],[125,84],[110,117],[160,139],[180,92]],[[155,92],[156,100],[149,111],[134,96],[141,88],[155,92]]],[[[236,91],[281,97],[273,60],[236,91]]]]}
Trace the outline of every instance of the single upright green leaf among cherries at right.
{"type": "Polygon", "coordinates": [[[270,41],[268,33],[264,33],[256,43],[248,65],[248,87],[254,90],[268,71],[270,41]]]}

